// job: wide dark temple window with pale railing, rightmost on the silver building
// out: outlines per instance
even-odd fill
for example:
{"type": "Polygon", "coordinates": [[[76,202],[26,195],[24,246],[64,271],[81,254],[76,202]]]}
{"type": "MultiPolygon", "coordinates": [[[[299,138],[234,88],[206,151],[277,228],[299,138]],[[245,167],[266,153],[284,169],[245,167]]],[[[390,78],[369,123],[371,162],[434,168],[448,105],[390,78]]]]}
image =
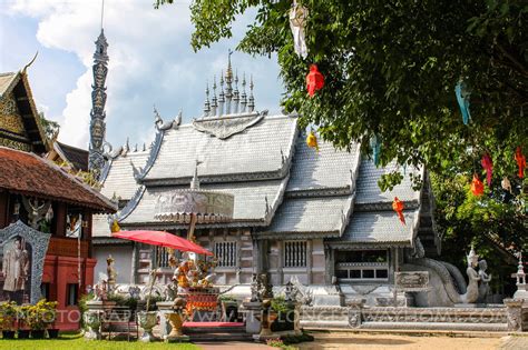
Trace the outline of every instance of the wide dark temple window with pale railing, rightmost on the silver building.
{"type": "Polygon", "coordinates": [[[341,282],[388,281],[388,251],[338,251],[335,274],[341,282]]]}

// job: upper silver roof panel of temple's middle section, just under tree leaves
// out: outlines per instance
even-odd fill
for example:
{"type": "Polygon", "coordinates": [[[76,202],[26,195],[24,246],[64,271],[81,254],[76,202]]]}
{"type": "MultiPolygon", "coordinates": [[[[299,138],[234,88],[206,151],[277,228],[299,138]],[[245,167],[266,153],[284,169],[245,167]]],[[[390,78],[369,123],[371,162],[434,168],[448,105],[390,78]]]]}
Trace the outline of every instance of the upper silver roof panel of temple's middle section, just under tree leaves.
{"type": "Polygon", "coordinates": [[[286,191],[352,190],[359,151],[359,144],[353,144],[348,152],[336,150],[330,142],[319,141],[317,152],[307,147],[305,136],[300,136],[286,191]]]}

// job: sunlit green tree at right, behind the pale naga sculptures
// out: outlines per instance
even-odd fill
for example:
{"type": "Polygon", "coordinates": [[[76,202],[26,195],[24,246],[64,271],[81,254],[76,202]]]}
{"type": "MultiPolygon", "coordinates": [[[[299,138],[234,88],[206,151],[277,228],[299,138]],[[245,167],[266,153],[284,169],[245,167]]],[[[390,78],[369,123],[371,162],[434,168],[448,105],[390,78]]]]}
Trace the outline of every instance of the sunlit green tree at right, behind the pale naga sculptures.
{"type": "Polygon", "coordinates": [[[516,286],[510,274],[517,262],[512,253],[521,250],[528,238],[528,193],[521,191],[520,181],[512,183],[511,191],[495,181],[491,190],[475,197],[468,182],[467,174],[431,176],[437,229],[442,237],[442,250],[448,252],[442,258],[463,271],[466,253],[475,246],[489,264],[493,289],[512,294],[516,286]]]}

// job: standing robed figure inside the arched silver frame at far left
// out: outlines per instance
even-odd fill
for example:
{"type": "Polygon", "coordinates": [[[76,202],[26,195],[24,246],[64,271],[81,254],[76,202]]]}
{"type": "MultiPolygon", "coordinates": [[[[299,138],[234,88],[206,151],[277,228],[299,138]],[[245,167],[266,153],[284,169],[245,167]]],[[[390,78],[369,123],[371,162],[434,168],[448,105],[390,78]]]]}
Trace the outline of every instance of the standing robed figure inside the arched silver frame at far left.
{"type": "Polygon", "coordinates": [[[9,299],[17,303],[23,302],[26,281],[29,276],[29,254],[22,243],[22,238],[17,237],[13,244],[3,254],[2,261],[3,291],[9,299]]]}

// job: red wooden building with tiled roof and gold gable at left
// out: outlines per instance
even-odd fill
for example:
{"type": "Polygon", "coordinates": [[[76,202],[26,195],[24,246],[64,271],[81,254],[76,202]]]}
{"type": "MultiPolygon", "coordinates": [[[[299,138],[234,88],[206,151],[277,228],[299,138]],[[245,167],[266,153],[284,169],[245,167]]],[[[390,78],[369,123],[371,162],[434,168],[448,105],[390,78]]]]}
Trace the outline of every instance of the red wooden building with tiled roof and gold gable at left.
{"type": "MultiPolygon", "coordinates": [[[[58,301],[59,310],[75,311],[81,291],[94,283],[91,217],[116,208],[39,156],[46,151],[26,72],[0,74],[0,231],[17,226],[49,237],[41,294],[58,301]]],[[[77,329],[78,320],[78,313],[59,312],[57,326],[77,329]]]]}

